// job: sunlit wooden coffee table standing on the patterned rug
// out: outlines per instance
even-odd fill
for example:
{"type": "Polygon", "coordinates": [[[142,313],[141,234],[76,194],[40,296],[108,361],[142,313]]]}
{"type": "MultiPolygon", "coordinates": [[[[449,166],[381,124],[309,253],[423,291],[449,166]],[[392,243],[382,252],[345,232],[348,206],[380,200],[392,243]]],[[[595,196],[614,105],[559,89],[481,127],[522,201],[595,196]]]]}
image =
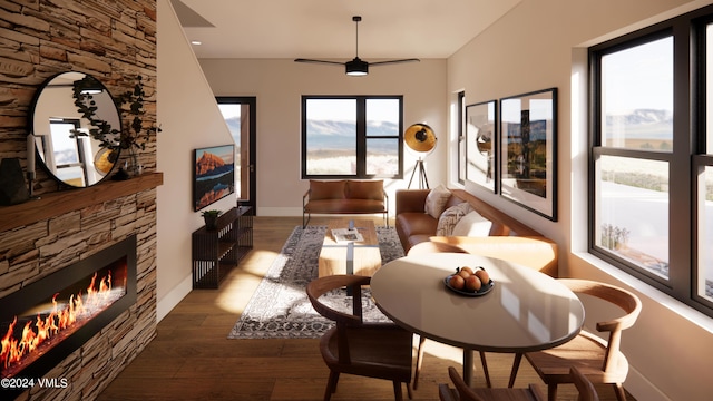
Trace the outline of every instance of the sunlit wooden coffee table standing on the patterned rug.
{"type": "Polygon", "coordinates": [[[381,267],[381,252],[374,222],[350,218],[330,221],[326,225],[319,265],[320,277],[334,274],[373,275],[381,267]],[[350,227],[359,229],[364,241],[338,243],[332,236],[332,229],[350,227]]]}

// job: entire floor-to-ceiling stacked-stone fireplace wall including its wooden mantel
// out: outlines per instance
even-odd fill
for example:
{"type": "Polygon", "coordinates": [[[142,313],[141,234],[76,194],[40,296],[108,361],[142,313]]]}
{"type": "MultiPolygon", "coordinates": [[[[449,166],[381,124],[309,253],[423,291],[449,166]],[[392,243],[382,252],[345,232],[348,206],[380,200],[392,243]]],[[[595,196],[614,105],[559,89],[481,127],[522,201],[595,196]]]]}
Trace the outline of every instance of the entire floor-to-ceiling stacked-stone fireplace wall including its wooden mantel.
{"type": "MultiPolygon", "coordinates": [[[[0,158],[17,157],[27,167],[30,104],[39,86],[58,72],[91,75],[113,94],[129,90],[143,76],[144,120],[156,123],[156,0],[7,0],[0,2],[0,158]]],[[[45,373],[30,372],[60,385],[35,385],[18,399],[95,399],[155,336],[156,187],[163,183],[155,145],[153,138],[141,150],[145,173],[137,178],[68,189],[38,167],[33,189],[40,198],[0,206],[0,311],[21,296],[13,294],[40,288],[69,266],[127,238],[136,244],[136,294],[128,291],[125,297],[130,302],[97,333],[81,335],[74,351],[42,368],[45,373]]]]}

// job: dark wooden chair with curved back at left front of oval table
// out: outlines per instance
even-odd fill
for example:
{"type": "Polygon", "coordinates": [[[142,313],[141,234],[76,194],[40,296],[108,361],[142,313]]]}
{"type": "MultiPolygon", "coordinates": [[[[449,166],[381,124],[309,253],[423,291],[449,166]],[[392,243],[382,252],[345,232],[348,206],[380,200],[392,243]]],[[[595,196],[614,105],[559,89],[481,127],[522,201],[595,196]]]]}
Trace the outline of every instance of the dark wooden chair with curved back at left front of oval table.
{"type": "Polygon", "coordinates": [[[361,293],[362,286],[370,282],[371,277],[367,276],[332,275],[307,284],[307,296],[314,310],[336,323],[320,340],[320,352],[330,369],[325,401],[336,391],[340,373],[390,380],[397,401],[403,399],[401,383],[406,383],[409,399],[412,398],[413,334],[394,323],[363,322],[361,293]],[[351,314],[320,300],[321,295],[332,291],[343,291],[346,296],[342,288],[351,288],[351,314]]]}

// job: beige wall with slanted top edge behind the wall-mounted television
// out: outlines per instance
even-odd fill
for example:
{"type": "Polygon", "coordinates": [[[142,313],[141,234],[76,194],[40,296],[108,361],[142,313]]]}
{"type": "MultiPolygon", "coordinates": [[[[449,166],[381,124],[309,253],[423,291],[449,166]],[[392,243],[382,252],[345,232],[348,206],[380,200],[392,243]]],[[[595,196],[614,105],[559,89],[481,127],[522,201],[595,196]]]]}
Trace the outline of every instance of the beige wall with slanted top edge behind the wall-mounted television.
{"type": "MultiPolygon", "coordinates": [[[[160,321],[192,290],[191,234],[203,226],[193,211],[193,149],[232,144],[233,138],[215,102],[201,66],[183,33],[169,0],[158,0],[157,170],[164,185],[157,192],[157,317],[160,321]]],[[[211,208],[227,211],[234,197],[211,208]]]]}

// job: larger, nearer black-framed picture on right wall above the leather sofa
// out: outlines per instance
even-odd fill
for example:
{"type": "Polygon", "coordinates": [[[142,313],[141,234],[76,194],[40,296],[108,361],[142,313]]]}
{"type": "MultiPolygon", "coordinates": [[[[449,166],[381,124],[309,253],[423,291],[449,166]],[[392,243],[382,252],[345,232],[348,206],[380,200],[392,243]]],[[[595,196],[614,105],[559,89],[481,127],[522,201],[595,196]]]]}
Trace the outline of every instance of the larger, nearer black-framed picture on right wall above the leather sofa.
{"type": "Polygon", "coordinates": [[[500,99],[500,195],[557,221],[557,88],[500,99]]]}

